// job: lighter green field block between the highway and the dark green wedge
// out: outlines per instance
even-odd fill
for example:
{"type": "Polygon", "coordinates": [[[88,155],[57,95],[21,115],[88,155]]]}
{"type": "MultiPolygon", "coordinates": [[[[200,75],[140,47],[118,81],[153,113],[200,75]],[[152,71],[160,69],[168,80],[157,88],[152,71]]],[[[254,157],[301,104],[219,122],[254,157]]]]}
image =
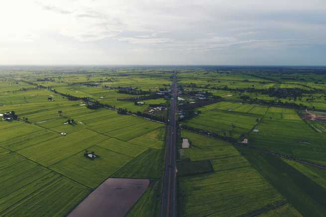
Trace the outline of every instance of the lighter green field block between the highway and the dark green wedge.
{"type": "MultiPolygon", "coordinates": [[[[179,177],[181,216],[252,216],[287,204],[232,145],[186,131],[182,137],[191,141],[192,147],[184,150],[196,156],[188,154],[191,161],[209,159],[214,171],[179,177]]],[[[296,214],[290,216],[300,216],[296,214]]]]}

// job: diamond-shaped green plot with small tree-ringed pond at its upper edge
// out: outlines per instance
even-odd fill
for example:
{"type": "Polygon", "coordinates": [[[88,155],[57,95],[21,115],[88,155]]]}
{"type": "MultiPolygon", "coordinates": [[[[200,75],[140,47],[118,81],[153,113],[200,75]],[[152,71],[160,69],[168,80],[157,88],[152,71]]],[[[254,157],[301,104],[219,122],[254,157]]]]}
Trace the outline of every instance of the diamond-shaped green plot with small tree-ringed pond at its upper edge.
{"type": "Polygon", "coordinates": [[[98,146],[91,147],[89,151],[94,151],[99,157],[92,160],[85,157],[84,152],[79,152],[50,168],[90,188],[95,188],[132,159],[98,146]]]}

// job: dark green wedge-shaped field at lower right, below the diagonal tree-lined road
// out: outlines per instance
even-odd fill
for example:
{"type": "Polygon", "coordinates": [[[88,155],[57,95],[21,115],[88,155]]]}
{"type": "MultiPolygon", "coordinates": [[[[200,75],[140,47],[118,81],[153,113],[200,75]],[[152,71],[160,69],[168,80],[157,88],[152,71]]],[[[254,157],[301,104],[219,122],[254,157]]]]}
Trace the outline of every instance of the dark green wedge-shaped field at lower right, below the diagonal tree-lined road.
{"type": "Polygon", "coordinates": [[[302,216],[325,216],[324,187],[277,156],[245,147],[238,150],[302,216]]]}

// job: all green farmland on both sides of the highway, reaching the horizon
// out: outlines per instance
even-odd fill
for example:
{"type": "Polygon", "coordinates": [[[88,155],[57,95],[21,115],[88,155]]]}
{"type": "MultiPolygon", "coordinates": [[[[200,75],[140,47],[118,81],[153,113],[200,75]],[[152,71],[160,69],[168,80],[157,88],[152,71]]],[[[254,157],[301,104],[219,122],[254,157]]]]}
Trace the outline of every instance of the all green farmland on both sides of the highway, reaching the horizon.
{"type": "MultiPolygon", "coordinates": [[[[175,70],[186,99],[179,103],[198,102],[191,91],[223,100],[194,108],[199,113],[181,124],[233,139],[247,137],[248,145],[326,165],[326,125],[298,115],[303,106],[321,115],[326,110],[326,77],[317,68],[0,70],[0,114],[15,111],[20,118],[0,121],[0,216],[66,216],[109,177],[150,179],[127,216],[158,216],[165,126],[105,108],[88,109],[83,100],[67,100],[47,87],[146,112],[150,104],[168,101],[144,99],[138,106],[125,100],[135,92],[118,89],[154,94],[170,88],[175,70]],[[64,124],[68,119],[75,123],[64,124]],[[98,157],[86,158],[86,151],[98,157]]],[[[325,216],[324,170],[184,130],[181,138],[189,139],[190,148],[178,150],[180,216],[325,216]]]]}

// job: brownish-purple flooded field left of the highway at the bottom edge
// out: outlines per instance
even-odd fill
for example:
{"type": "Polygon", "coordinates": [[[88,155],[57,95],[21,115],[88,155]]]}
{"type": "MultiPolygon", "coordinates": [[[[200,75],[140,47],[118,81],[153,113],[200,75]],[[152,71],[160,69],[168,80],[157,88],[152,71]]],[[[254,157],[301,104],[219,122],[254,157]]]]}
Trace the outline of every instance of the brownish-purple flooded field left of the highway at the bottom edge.
{"type": "Polygon", "coordinates": [[[68,217],[123,217],[149,185],[148,179],[109,178],[68,217]]]}

